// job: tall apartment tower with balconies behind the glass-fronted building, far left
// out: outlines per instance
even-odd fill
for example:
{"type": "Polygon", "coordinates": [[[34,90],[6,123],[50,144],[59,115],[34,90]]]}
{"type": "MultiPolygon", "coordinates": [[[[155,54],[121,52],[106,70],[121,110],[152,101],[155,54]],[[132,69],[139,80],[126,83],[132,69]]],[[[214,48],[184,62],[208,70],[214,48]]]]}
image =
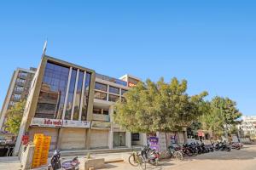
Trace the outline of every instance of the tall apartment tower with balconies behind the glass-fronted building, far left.
{"type": "Polygon", "coordinates": [[[7,120],[7,111],[22,99],[26,99],[32,78],[37,69],[30,68],[29,70],[17,68],[13,73],[11,82],[6,97],[3,102],[0,118],[0,130],[5,131],[5,122],[7,120]]]}

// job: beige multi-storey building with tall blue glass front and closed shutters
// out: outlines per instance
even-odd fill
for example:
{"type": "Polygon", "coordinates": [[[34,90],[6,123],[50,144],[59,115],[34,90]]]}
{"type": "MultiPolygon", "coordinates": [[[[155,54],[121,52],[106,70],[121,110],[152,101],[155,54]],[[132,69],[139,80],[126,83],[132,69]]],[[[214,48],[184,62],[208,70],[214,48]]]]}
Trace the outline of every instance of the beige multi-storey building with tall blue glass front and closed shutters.
{"type": "Polygon", "coordinates": [[[50,149],[112,149],[147,143],[146,134],[125,132],[113,122],[113,104],[140,80],[97,74],[44,55],[32,80],[15,154],[23,135],[50,135],[50,149]]]}

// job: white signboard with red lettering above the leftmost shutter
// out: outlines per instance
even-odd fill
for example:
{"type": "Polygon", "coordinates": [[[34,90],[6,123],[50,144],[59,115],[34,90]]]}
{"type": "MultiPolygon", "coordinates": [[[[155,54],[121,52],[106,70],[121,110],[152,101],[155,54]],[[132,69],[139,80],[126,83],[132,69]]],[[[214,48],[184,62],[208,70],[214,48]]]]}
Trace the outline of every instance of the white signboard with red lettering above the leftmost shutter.
{"type": "Polygon", "coordinates": [[[33,117],[30,125],[38,127],[62,127],[62,120],[33,117]]]}

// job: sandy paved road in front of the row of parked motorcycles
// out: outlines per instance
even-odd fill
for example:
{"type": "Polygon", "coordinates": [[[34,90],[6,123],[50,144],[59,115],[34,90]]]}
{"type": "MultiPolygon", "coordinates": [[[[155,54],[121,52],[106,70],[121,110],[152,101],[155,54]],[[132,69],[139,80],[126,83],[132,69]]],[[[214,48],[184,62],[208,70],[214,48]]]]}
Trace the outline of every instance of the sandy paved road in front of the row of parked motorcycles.
{"type": "MultiPolygon", "coordinates": [[[[106,169],[139,169],[128,163],[107,165],[106,169]]],[[[187,157],[184,161],[163,161],[159,167],[149,166],[149,170],[256,170],[256,145],[245,146],[231,152],[216,151],[201,156],[187,157]]]]}

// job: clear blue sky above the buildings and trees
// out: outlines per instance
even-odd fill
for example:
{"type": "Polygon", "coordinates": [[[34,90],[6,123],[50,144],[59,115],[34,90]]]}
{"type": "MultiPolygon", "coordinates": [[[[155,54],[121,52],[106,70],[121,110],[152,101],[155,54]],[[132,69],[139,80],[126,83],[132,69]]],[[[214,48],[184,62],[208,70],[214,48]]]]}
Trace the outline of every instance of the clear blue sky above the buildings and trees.
{"type": "Polygon", "coordinates": [[[46,54],[111,76],[189,81],[189,94],[256,115],[255,1],[6,1],[0,5],[0,106],[16,67],[46,54]]]}

